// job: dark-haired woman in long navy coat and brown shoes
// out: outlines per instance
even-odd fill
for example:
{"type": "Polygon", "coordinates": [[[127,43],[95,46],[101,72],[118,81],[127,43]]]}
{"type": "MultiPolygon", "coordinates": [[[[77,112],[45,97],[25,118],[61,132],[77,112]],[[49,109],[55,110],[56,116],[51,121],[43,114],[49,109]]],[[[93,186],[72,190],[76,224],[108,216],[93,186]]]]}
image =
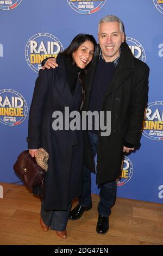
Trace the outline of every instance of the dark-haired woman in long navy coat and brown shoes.
{"type": "Polygon", "coordinates": [[[41,205],[40,224],[43,230],[56,230],[67,237],[66,225],[72,199],[82,192],[83,133],[77,130],[54,131],[54,111],[65,120],[65,107],[81,111],[84,98],[84,77],[97,53],[92,35],[79,34],[57,57],[57,69],[39,71],[30,106],[28,149],[32,157],[37,149],[49,154],[45,199],[41,205]]]}

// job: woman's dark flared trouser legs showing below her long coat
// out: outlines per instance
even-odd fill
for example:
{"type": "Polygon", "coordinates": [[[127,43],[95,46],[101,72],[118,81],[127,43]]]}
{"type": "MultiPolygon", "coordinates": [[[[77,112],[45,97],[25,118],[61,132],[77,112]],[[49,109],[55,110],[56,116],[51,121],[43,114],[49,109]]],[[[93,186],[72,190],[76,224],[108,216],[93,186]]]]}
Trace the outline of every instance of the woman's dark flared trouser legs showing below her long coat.
{"type": "Polygon", "coordinates": [[[45,211],[43,209],[43,201],[41,204],[41,218],[50,229],[56,231],[64,231],[68,222],[68,216],[70,214],[71,203],[67,205],[65,211],[45,211]]]}

